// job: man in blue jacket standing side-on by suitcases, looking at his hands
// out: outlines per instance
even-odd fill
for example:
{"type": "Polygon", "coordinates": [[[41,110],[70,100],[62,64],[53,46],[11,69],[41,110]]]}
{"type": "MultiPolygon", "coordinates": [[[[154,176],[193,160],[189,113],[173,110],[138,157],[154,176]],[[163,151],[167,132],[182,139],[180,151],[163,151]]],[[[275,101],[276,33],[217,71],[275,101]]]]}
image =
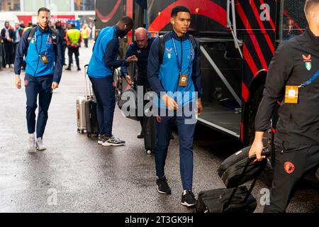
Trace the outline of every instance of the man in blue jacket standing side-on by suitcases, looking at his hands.
{"type": "Polygon", "coordinates": [[[96,111],[100,135],[98,143],[103,146],[124,145],[125,142],[112,135],[113,114],[115,108],[115,87],[113,72],[117,67],[127,66],[136,60],[135,56],[118,60],[118,38],[123,38],[133,28],[133,20],[123,16],[113,27],[101,30],[94,45],[87,73],[96,95],[96,111]]]}

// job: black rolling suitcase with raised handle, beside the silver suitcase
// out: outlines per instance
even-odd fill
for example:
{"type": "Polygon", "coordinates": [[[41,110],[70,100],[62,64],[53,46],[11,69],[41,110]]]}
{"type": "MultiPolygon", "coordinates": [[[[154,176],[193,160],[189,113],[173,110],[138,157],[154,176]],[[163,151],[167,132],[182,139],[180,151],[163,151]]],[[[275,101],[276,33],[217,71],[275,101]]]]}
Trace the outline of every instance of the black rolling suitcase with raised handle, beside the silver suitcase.
{"type": "Polygon", "coordinates": [[[87,78],[86,69],[88,65],[84,66],[84,76],[85,76],[85,123],[86,123],[86,135],[91,137],[91,135],[99,135],[99,123],[96,114],[96,101],[94,100],[94,94],[91,92],[91,82],[89,82],[89,94],[87,93],[87,78]]]}

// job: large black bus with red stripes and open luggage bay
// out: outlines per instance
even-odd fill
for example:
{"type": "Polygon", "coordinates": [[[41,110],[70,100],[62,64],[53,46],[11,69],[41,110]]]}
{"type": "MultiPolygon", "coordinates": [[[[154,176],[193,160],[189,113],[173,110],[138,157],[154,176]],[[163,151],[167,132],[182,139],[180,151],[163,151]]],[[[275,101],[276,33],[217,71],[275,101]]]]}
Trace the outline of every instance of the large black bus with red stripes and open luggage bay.
{"type": "MultiPolygon", "coordinates": [[[[305,1],[112,0],[108,1],[108,6],[104,4],[103,11],[109,21],[111,16],[116,18],[111,25],[127,15],[133,18],[135,28],[144,26],[150,35],[160,35],[172,31],[170,13],[174,6],[189,8],[189,33],[201,42],[203,114],[198,121],[237,138],[242,145],[250,145],[254,139],[254,118],[262,99],[269,63],[280,43],[305,31],[305,1]]],[[[102,10],[102,4],[103,1],[96,1],[97,21],[97,12],[102,10]]],[[[98,24],[101,27],[111,26],[98,24]]],[[[132,41],[133,34],[129,35],[128,43],[132,41]]],[[[121,79],[118,75],[115,78],[121,79]]],[[[119,94],[121,89],[123,84],[117,82],[119,94]]],[[[279,105],[280,102],[278,100],[279,105]]],[[[274,150],[272,140],[276,133],[276,118],[274,111],[264,137],[264,145],[270,150],[274,150]]],[[[274,158],[269,160],[269,168],[272,160],[274,158]]],[[[319,184],[318,170],[310,175],[319,184]]]]}

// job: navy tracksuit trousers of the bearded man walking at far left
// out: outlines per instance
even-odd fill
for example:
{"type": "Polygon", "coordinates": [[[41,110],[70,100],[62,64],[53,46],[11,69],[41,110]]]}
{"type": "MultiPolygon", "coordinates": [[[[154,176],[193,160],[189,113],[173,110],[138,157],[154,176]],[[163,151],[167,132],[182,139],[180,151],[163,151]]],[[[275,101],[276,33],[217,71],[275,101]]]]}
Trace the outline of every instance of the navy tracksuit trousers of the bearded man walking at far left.
{"type": "Polygon", "coordinates": [[[52,75],[43,77],[33,77],[26,74],[24,84],[26,87],[26,119],[28,133],[35,132],[35,109],[37,109],[37,99],[39,94],[39,111],[37,120],[37,138],[43,138],[45,126],[47,124],[47,111],[52,99],[52,75]]]}

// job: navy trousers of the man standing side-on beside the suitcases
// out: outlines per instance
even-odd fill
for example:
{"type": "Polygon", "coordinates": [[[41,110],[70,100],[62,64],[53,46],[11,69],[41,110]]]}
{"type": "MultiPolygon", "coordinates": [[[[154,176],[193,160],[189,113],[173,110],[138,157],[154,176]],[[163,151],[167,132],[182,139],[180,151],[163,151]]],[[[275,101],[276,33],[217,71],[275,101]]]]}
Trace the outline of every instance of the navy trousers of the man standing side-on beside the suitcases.
{"type": "Polygon", "coordinates": [[[109,137],[112,135],[113,115],[116,105],[113,76],[89,78],[96,96],[96,114],[99,121],[100,134],[109,137]]]}

